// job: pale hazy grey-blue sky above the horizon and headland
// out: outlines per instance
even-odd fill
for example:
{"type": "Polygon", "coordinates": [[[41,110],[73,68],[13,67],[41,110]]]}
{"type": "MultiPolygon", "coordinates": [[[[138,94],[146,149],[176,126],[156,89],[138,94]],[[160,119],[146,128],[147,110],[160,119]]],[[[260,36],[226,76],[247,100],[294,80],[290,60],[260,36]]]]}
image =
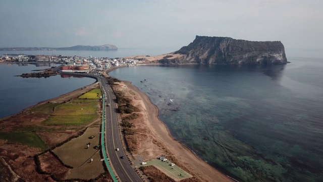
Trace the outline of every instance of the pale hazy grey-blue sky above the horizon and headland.
{"type": "Polygon", "coordinates": [[[196,35],[323,48],[323,1],[0,0],[0,47],[175,48],[196,35]]]}

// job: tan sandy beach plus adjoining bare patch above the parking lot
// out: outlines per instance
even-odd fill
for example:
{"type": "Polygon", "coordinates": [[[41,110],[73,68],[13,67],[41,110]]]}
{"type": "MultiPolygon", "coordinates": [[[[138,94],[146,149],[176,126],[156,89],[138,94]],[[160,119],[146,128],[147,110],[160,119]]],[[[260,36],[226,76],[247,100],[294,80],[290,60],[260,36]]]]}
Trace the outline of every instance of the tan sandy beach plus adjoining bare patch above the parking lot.
{"type": "Polygon", "coordinates": [[[133,100],[135,102],[134,105],[137,107],[139,106],[142,109],[145,121],[140,125],[142,126],[144,123],[146,123],[148,130],[148,138],[152,137],[162,144],[161,146],[154,145],[151,142],[153,140],[146,140],[145,142],[142,142],[142,149],[139,149],[138,151],[145,153],[143,150],[144,148],[146,148],[150,152],[150,154],[148,155],[141,155],[143,159],[149,160],[152,157],[156,157],[158,156],[158,154],[160,154],[160,150],[151,150],[149,149],[149,147],[165,147],[167,151],[170,151],[170,153],[174,155],[178,163],[181,163],[181,165],[185,166],[191,174],[193,174],[202,181],[234,181],[227,175],[211,167],[209,164],[207,164],[194,153],[192,153],[187,147],[182,145],[180,142],[176,141],[170,135],[170,132],[165,126],[165,124],[159,120],[157,107],[153,105],[150,102],[149,98],[144,93],[140,92],[140,90],[136,86],[132,85],[129,81],[122,81],[119,84],[124,84],[122,86],[123,89],[130,89],[128,90],[128,92],[130,92],[131,95],[134,96],[133,98],[135,98],[133,100]]]}

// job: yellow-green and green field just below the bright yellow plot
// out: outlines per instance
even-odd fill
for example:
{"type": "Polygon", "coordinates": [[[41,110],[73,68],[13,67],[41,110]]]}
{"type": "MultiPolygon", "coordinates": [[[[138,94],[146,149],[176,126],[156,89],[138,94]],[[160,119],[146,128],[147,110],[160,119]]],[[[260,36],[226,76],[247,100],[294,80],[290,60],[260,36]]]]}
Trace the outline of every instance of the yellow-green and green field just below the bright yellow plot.
{"type": "Polygon", "coordinates": [[[55,108],[44,125],[83,125],[97,118],[97,102],[65,103],[55,108]]]}

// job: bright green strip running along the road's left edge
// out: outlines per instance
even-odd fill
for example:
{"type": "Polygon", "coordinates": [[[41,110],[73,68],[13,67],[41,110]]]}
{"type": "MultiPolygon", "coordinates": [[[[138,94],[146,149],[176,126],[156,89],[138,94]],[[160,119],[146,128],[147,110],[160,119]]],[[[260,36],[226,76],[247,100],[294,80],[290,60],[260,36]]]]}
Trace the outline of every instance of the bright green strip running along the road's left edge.
{"type": "Polygon", "coordinates": [[[112,179],[115,181],[115,182],[118,182],[117,180],[117,177],[115,176],[115,174],[113,173],[112,171],[112,168],[110,166],[110,163],[109,163],[109,160],[107,160],[107,156],[106,156],[106,153],[105,153],[105,122],[104,122],[104,107],[105,107],[105,98],[104,98],[104,94],[102,93],[102,100],[103,100],[103,107],[102,107],[102,129],[101,129],[101,150],[102,150],[102,154],[103,154],[103,158],[104,158],[104,162],[105,162],[105,165],[107,167],[107,170],[109,170],[110,172],[110,175],[112,177],[112,179]]]}

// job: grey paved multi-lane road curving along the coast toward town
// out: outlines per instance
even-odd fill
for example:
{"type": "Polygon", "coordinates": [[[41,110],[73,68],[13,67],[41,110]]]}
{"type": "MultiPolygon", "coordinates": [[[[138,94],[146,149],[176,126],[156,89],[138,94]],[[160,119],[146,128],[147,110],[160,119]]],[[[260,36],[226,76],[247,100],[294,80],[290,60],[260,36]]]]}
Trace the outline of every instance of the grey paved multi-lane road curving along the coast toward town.
{"type": "Polygon", "coordinates": [[[109,156],[110,163],[116,171],[116,175],[119,177],[119,180],[122,182],[125,181],[137,181],[142,182],[142,179],[134,170],[134,167],[131,166],[128,161],[125,152],[122,149],[120,135],[119,135],[119,127],[118,127],[118,115],[116,112],[116,103],[115,96],[112,92],[112,89],[109,84],[107,84],[107,80],[103,77],[100,79],[100,82],[103,85],[103,90],[106,96],[106,106],[105,108],[105,137],[106,137],[106,148],[107,155],[109,156]],[[107,106],[110,104],[109,106],[107,106]],[[120,150],[117,151],[116,149],[120,150]],[[121,159],[121,156],[124,156],[124,159],[121,159]]]}

